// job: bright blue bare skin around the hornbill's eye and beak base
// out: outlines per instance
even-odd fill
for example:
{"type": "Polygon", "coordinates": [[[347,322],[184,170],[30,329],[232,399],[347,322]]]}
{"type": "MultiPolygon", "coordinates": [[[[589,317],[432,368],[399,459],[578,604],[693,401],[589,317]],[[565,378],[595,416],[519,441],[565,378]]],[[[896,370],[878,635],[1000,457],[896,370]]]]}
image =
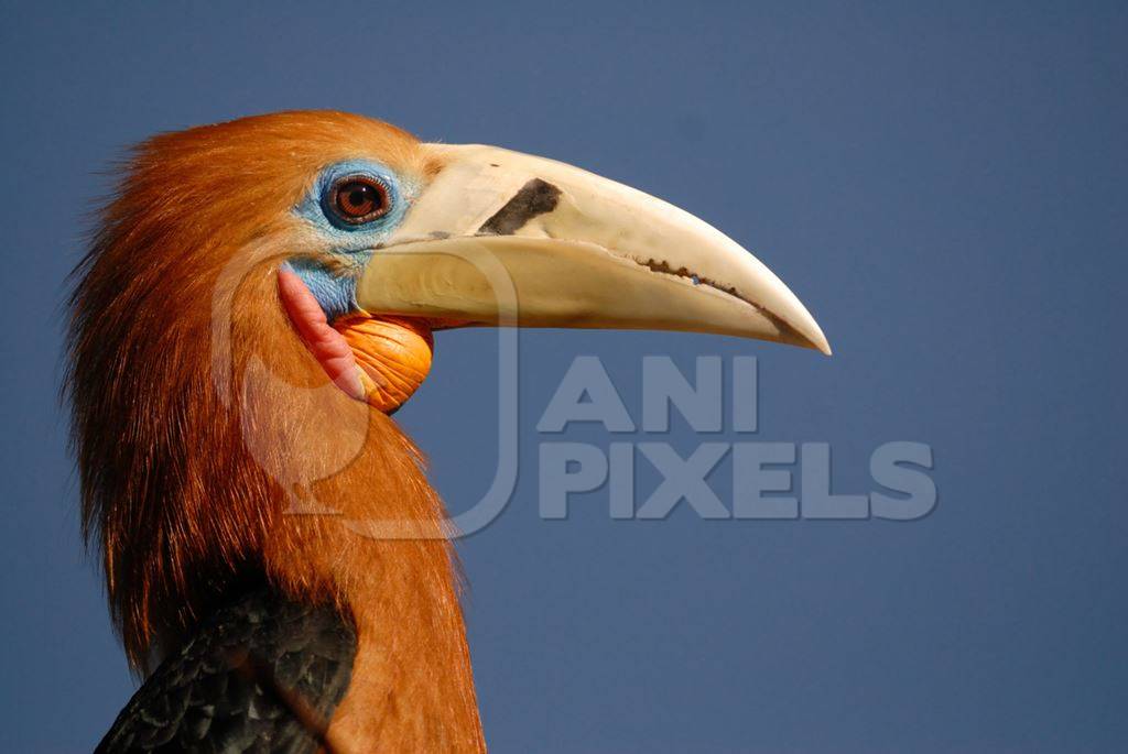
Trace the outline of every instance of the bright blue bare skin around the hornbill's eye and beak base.
{"type": "Polygon", "coordinates": [[[325,239],[329,254],[342,263],[331,269],[316,259],[298,257],[283,265],[301,277],[331,322],[360,310],[356,278],[372,254],[403,222],[417,193],[415,181],[405,180],[385,165],[371,160],[346,160],[323,170],[309,194],[293,209],[294,214],[325,239]],[[380,181],[387,188],[388,212],[359,225],[341,220],[332,205],[333,186],[350,177],[380,181]]]}

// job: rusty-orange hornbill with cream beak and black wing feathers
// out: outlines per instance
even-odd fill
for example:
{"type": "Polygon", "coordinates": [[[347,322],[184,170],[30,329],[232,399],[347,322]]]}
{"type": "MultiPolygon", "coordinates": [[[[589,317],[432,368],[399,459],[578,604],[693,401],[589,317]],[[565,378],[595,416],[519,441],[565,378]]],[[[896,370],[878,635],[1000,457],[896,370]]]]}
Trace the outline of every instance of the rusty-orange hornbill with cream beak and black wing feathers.
{"type": "Polygon", "coordinates": [[[775,275],[666,202],[336,112],[140,144],[74,281],[83,530],[146,677],[99,752],[485,749],[452,532],[390,418],[434,330],[829,353],[775,275]]]}

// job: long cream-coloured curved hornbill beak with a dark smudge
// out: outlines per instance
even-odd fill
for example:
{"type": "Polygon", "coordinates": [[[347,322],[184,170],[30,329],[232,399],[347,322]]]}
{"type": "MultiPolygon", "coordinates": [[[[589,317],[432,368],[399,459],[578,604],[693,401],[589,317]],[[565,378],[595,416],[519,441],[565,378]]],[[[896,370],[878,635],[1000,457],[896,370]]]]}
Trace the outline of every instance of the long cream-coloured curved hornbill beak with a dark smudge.
{"type": "Polygon", "coordinates": [[[443,167],[363,270],[356,302],[367,312],[715,332],[830,353],[778,277],[689,213],[555,160],[425,149],[443,167]]]}

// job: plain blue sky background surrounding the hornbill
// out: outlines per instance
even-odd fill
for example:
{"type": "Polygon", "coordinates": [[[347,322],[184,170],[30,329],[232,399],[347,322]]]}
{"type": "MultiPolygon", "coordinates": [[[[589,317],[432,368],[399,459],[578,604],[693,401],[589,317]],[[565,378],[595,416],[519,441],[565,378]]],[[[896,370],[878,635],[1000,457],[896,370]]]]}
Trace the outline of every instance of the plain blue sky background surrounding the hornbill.
{"type": "MultiPolygon", "coordinates": [[[[518,494],[460,547],[493,751],[1123,751],[1123,6],[253,5],[5,3],[5,751],[88,751],[133,689],[56,399],[98,171],[155,132],[298,107],[660,195],[756,250],[835,347],[522,335],[518,494]],[[861,493],[874,447],[931,443],[940,504],[644,523],[596,494],[543,522],[536,422],[579,354],[636,418],[643,355],[758,355],[756,440],[832,443],[861,493]]],[[[440,336],[400,415],[456,509],[493,473],[495,343],[440,336]]]]}

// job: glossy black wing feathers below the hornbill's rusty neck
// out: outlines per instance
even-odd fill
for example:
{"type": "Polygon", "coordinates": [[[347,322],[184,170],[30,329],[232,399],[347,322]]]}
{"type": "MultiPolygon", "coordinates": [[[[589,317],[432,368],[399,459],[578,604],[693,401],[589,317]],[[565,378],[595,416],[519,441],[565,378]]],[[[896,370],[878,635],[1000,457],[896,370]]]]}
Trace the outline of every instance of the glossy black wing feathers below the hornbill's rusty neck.
{"type": "Polygon", "coordinates": [[[355,654],[356,633],[333,609],[253,592],[161,663],[95,754],[312,753],[355,654]]]}

